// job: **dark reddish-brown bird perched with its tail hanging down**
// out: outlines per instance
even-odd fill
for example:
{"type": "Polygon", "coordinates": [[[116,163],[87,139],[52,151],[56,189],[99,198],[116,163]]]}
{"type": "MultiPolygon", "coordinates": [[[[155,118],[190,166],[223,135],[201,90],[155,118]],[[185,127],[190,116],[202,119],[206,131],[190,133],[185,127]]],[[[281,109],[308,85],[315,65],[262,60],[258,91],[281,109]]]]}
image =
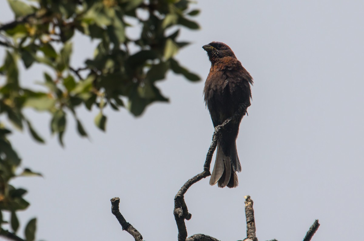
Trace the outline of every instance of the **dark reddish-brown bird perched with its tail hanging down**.
{"type": "MultiPolygon", "coordinates": [[[[211,42],[202,48],[206,50],[211,62],[203,95],[212,123],[216,127],[232,117],[240,103],[250,103],[250,85],[253,85],[253,78],[226,44],[211,42]]],[[[236,172],[241,171],[241,165],[235,141],[242,117],[230,122],[219,136],[210,185],[218,183],[219,187],[229,188],[238,185],[236,172]]]]}

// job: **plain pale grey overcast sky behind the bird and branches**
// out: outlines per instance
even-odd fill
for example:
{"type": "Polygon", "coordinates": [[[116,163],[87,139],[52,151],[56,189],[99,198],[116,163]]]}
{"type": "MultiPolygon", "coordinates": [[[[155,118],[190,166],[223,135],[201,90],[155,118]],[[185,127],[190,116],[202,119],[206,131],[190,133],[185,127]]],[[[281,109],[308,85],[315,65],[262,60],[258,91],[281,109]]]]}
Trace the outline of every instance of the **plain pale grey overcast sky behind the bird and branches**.
{"type": "MultiPolygon", "coordinates": [[[[13,181],[25,187],[31,206],[24,225],[37,217],[37,240],[133,240],[111,214],[110,199],[144,240],[177,240],[173,198],[203,170],[213,125],[202,97],[210,62],[202,45],[222,41],[254,78],[249,116],[240,126],[242,164],[235,189],[199,181],[186,194],[190,235],[219,240],[246,237],[244,196],[254,201],[261,241],[302,240],[317,218],[313,240],[363,237],[364,1],[199,0],[199,31],[183,30],[193,44],[177,56],[203,81],[168,74],[159,84],[170,103],[155,103],[141,118],[107,109],[107,131],[79,110],[91,141],[80,138],[72,118],[66,147],[50,136],[50,116],[27,111],[47,144],[27,132],[11,141],[23,167],[44,178],[13,181]]],[[[13,18],[0,0],[0,21],[13,18]]],[[[73,38],[72,65],[93,54],[88,40],[73,38]]],[[[0,59],[3,61],[3,50],[0,59]]],[[[21,72],[30,85],[43,69],[21,72]]],[[[70,117],[70,115],[69,115],[70,117]]],[[[21,226],[21,233],[24,226],[21,226]]]]}

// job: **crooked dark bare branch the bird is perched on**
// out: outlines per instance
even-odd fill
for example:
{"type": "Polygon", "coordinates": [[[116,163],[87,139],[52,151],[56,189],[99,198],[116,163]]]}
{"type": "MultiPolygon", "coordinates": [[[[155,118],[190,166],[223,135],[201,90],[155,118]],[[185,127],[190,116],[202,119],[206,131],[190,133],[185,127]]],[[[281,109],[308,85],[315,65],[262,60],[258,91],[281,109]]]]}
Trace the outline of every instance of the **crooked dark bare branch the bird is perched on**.
{"type": "Polygon", "coordinates": [[[186,183],[181,187],[181,189],[179,189],[176,196],[174,197],[173,214],[174,214],[174,219],[176,220],[176,224],[177,224],[177,228],[178,228],[178,241],[186,240],[187,229],[186,229],[185,219],[190,220],[190,218],[191,218],[191,214],[188,212],[187,205],[185,202],[185,197],[184,197],[185,193],[194,183],[197,183],[199,180],[201,180],[205,177],[211,176],[211,173],[210,173],[211,160],[212,160],[214,151],[216,149],[218,136],[219,136],[221,130],[223,130],[223,128],[225,128],[225,126],[227,126],[229,124],[229,122],[232,121],[233,119],[237,119],[238,117],[244,116],[246,113],[246,109],[249,106],[250,106],[250,102],[241,103],[238,111],[232,117],[226,119],[221,125],[215,127],[212,142],[211,142],[209,151],[207,151],[205,164],[203,165],[203,172],[197,174],[196,176],[194,176],[191,179],[189,179],[188,181],[186,181],[186,183]]]}

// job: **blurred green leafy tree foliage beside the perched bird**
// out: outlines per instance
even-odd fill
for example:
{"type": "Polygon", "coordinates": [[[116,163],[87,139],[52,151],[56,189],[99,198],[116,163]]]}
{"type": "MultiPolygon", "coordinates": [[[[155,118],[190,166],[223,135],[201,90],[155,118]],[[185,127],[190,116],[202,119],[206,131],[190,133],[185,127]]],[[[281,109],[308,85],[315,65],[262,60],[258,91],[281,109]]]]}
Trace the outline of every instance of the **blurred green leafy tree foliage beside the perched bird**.
{"type": "MultiPolygon", "coordinates": [[[[104,131],[107,105],[139,116],[151,103],[168,101],[155,83],[165,79],[169,70],[190,81],[199,80],[175,59],[179,49],[189,44],[177,40],[179,27],[199,28],[191,20],[199,11],[190,9],[188,0],[8,0],[8,4],[15,19],[0,25],[0,46],[5,52],[0,65],[4,79],[0,82],[0,116],[17,129],[27,127],[37,142],[44,143],[44,139],[24,108],[50,113],[51,132],[63,145],[69,116],[75,119],[80,136],[87,136],[77,115],[82,107],[99,110],[94,122],[104,131]],[[138,38],[128,36],[128,28],[140,29],[138,38]],[[70,66],[76,31],[98,42],[94,57],[83,66],[70,66]],[[38,83],[46,91],[25,88],[19,82],[19,65],[28,69],[35,63],[51,70],[38,83]]],[[[40,175],[28,168],[19,171],[21,159],[7,138],[10,133],[0,123],[0,235],[8,237],[19,229],[17,211],[29,205],[23,198],[27,191],[9,181],[40,175]],[[10,220],[3,220],[3,211],[11,214],[10,220]],[[6,223],[12,232],[3,228],[6,223]]],[[[25,240],[34,240],[35,230],[32,219],[24,230],[25,240]]]]}

